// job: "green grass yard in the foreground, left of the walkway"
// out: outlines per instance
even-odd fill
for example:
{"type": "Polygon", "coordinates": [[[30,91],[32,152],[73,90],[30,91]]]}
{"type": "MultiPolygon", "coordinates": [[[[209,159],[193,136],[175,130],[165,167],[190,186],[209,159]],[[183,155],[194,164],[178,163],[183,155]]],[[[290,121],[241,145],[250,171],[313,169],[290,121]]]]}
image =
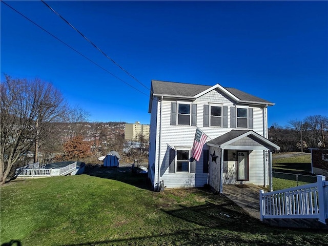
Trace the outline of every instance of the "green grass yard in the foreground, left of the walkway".
{"type": "Polygon", "coordinates": [[[327,231],[266,226],[207,190],[155,193],[128,168],[86,171],[3,186],[1,244],[328,245],[327,231]]]}

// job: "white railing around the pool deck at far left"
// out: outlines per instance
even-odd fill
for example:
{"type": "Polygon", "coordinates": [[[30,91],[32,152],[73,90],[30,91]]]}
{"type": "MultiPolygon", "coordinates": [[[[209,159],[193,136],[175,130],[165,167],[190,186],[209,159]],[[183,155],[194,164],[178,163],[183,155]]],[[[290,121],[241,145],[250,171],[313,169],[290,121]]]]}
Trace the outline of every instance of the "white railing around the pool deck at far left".
{"type": "Polygon", "coordinates": [[[46,177],[46,176],[65,176],[76,170],[76,161],[63,168],[51,168],[51,169],[17,169],[16,175],[18,177],[46,177]]]}

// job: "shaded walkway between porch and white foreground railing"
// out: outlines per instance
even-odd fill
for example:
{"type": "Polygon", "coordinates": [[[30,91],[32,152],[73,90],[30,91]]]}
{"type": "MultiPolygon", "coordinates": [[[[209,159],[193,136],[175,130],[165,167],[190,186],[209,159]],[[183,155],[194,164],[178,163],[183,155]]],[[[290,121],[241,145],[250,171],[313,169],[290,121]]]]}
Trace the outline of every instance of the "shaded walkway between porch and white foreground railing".
{"type": "Polygon", "coordinates": [[[260,219],[260,189],[252,184],[223,185],[223,194],[252,217],[260,219]]]}

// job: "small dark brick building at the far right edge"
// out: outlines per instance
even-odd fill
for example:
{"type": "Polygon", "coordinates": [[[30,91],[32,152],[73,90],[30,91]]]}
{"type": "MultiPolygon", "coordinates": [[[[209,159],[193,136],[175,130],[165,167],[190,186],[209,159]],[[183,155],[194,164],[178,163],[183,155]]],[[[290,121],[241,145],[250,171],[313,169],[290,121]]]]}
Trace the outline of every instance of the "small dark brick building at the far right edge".
{"type": "Polygon", "coordinates": [[[312,174],[328,177],[328,149],[310,148],[312,174]]]}

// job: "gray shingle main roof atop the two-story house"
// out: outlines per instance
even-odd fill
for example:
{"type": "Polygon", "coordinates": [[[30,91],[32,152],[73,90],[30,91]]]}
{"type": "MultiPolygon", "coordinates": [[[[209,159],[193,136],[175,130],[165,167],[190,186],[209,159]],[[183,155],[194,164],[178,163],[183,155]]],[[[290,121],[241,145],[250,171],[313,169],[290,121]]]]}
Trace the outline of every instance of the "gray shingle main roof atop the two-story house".
{"type": "MultiPolygon", "coordinates": [[[[213,85],[212,85],[213,86],[213,85]]],[[[152,80],[152,90],[155,95],[186,96],[193,97],[212,86],[177,83],[169,81],[152,80]]],[[[238,97],[241,101],[274,105],[270,101],[253,96],[235,88],[225,87],[227,91],[238,97]]]]}

